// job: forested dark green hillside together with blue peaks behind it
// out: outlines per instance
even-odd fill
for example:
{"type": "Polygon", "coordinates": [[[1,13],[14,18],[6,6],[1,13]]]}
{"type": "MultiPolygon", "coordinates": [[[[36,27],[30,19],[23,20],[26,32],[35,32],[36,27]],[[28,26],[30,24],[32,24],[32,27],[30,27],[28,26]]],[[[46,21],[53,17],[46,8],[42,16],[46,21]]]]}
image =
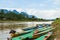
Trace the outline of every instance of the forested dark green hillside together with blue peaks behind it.
{"type": "Polygon", "coordinates": [[[29,15],[26,12],[0,9],[0,20],[35,20],[35,19],[38,18],[34,15],[29,15]]]}

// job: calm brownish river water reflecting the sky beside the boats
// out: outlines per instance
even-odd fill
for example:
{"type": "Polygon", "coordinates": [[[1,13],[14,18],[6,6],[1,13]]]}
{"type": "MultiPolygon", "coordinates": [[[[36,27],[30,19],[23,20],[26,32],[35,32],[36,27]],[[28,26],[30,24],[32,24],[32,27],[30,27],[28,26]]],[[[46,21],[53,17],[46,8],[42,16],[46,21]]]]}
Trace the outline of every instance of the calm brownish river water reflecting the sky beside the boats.
{"type": "Polygon", "coordinates": [[[18,32],[22,32],[22,28],[33,27],[36,24],[51,24],[53,21],[49,22],[12,22],[12,23],[0,23],[0,40],[7,40],[9,37],[9,31],[14,29],[18,32]]]}

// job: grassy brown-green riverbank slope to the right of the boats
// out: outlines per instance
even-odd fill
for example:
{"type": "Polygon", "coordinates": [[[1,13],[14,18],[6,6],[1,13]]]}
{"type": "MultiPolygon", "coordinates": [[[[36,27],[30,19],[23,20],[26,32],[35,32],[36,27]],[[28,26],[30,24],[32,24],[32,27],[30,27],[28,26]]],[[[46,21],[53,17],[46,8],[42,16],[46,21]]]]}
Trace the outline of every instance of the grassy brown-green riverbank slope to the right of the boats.
{"type": "Polygon", "coordinates": [[[55,28],[53,30],[52,36],[48,40],[60,40],[60,18],[57,18],[53,23],[52,26],[55,28]]]}

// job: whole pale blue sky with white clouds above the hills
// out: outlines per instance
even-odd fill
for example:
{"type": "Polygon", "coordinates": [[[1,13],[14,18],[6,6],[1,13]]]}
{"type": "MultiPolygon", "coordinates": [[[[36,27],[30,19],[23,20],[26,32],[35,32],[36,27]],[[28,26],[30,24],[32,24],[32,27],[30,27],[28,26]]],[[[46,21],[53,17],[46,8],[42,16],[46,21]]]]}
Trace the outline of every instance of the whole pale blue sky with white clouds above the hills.
{"type": "Polygon", "coordinates": [[[60,17],[60,0],[0,0],[0,9],[25,11],[39,18],[60,17]]]}

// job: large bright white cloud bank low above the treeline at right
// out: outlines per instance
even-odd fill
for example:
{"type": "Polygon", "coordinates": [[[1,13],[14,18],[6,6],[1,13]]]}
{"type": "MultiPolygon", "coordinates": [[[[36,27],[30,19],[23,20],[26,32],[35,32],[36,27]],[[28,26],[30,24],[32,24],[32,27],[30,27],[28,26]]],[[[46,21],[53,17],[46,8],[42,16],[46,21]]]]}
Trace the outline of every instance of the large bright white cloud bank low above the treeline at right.
{"type": "Polygon", "coordinates": [[[60,10],[36,10],[36,9],[29,9],[27,10],[27,12],[29,14],[35,15],[39,18],[44,18],[44,19],[53,19],[53,18],[57,18],[60,17],[60,10]]]}

